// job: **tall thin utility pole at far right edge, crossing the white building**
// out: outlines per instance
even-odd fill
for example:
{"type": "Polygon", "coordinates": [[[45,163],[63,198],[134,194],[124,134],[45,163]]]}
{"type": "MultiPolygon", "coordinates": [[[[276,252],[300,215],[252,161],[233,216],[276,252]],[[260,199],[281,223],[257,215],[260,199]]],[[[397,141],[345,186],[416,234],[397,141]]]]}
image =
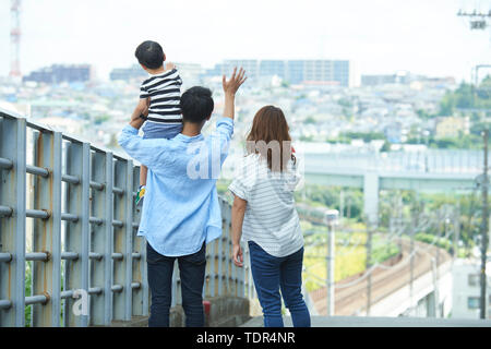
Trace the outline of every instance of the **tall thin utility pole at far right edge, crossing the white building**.
{"type": "Polygon", "coordinates": [[[481,297],[480,297],[480,318],[486,318],[486,262],[488,252],[489,233],[489,203],[488,203],[488,139],[489,130],[483,132],[484,137],[484,171],[482,173],[482,225],[481,225],[481,297]]]}

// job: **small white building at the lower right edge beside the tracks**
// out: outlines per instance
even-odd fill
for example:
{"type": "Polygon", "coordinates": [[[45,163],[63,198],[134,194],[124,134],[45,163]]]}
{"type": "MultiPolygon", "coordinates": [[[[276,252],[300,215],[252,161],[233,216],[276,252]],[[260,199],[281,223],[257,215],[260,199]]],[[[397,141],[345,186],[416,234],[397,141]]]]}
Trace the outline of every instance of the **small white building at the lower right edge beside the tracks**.
{"type": "MultiPolygon", "coordinates": [[[[491,318],[491,262],[487,266],[487,317],[491,318]]],[[[480,305],[480,261],[456,260],[453,274],[453,309],[454,318],[479,318],[480,305]]]]}

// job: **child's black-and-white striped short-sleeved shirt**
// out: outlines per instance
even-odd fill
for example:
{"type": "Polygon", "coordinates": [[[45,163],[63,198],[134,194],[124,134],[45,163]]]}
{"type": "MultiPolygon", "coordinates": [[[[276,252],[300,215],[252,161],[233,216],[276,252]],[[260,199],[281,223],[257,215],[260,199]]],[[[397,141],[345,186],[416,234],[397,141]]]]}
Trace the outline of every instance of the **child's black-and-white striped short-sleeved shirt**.
{"type": "Polygon", "coordinates": [[[148,121],[181,123],[182,80],[177,69],[160,74],[151,74],[140,86],[140,98],[151,98],[148,121]]]}

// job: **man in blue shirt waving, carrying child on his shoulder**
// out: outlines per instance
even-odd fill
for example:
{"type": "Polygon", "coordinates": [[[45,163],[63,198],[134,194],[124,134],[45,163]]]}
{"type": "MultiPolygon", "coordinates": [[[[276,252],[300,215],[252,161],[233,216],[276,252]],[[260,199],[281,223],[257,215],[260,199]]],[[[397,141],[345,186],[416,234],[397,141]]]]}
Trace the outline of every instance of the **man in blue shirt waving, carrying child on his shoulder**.
{"type": "Polygon", "coordinates": [[[119,137],[121,147],[148,168],[137,234],[147,240],[151,327],[169,326],[175,260],[185,325],[204,326],[206,243],[221,234],[216,180],[233,133],[235,95],[247,80],[242,69],[236,73],[237,69],[228,81],[223,76],[224,116],[208,137],[201,130],[212,117],[214,101],[212,92],[200,86],[181,96],[183,127],[176,137],[143,140],[137,132],[144,118],[136,111],[119,137]]]}

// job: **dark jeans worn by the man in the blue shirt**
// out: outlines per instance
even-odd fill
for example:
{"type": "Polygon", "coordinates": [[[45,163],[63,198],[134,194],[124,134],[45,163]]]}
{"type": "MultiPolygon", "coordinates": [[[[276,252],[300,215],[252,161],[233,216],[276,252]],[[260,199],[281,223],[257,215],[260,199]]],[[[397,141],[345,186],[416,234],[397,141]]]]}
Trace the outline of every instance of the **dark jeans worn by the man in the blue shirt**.
{"type": "Polygon", "coordinates": [[[181,277],[182,308],[187,327],[203,327],[203,284],[206,268],[206,244],[193,254],[168,257],[146,243],[148,286],[152,294],[148,327],[169,327],[173,262],[178,260],[181,277]]]}

